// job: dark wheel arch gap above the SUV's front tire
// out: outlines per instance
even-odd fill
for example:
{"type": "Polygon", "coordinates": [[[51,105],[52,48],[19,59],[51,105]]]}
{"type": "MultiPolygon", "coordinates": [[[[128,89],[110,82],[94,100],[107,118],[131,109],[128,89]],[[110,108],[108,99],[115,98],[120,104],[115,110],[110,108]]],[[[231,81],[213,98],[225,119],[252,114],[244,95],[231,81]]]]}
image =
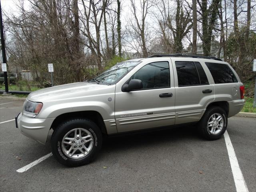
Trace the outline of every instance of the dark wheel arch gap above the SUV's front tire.
{"type": "Polygon", "coordinates": [[[102,115],[97,111],[78,111],[78,112],[67,112],[64,114],[60,114],[55,118],[55,120],[52,122],[52,130],[54,130],[61,122],[68,120],[70,118],[87,118],[92,120],[94,123],[98,125],[100,128],[100,131],[103,134],[106,134],[106,126],[103,121],[102,115]]]}

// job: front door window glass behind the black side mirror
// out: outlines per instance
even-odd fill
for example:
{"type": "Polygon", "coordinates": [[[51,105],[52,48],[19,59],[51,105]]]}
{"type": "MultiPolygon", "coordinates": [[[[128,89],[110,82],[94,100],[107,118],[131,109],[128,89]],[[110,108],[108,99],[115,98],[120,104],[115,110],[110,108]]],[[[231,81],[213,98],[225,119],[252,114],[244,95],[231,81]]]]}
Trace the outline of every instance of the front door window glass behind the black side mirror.
{"type": "Polygon", "coordinates": [[[168,62],[154,62],[138,70],[131,79],[142,80],[143,89],[170,87],[168,62]]]}

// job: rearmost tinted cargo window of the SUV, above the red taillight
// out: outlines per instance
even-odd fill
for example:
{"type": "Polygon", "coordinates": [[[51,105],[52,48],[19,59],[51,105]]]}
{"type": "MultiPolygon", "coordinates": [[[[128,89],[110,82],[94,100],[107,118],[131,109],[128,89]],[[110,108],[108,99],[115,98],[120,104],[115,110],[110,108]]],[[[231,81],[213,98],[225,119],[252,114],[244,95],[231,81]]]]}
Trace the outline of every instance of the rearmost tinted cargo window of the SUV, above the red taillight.
{"type": "Polygon", "coordinates": [[[219,83],[236,83],[236,76],[227,64],[205,62],[212,74],[215,84],[219,83]]]}

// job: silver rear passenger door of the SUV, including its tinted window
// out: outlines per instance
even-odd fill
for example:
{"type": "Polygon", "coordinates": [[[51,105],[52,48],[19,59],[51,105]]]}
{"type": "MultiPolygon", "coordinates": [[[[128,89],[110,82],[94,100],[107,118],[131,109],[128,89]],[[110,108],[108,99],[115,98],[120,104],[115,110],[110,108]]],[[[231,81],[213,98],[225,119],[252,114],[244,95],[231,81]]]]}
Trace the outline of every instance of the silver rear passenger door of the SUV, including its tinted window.
{"type": "MultiPolygon", "coordinates": [[[[214,100],[214,86],[201,59],[172,58],[176,89],[175,124],[196,122],[214,100]]],[[[211,79],[212,80],[212,79],[211,79]]]]}

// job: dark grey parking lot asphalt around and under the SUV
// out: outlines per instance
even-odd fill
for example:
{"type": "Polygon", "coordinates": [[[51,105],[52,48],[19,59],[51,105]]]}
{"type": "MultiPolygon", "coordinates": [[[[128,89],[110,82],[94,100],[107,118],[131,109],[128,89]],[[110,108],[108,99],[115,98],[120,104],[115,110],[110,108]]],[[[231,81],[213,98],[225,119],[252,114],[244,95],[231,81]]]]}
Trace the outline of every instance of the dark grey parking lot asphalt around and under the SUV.
{"type": "MultiPolygon", "coordinates": [[[[14,119],[23,102],[0,100],[0,122],[14,119]],[[9,104],[4,104],[12,102],[9,104]]],[[[256,119],[228,119],[228,134],[249,192],[256,191],[256,119]]],[[[49,136],[50,138],[50,136],[49,136]]],[[[0,124],[0,191],[236,191],[224,137],[206,141],[195,126],[106,138],[98,158],[67,168],[15,128],[0,124]]]]}

